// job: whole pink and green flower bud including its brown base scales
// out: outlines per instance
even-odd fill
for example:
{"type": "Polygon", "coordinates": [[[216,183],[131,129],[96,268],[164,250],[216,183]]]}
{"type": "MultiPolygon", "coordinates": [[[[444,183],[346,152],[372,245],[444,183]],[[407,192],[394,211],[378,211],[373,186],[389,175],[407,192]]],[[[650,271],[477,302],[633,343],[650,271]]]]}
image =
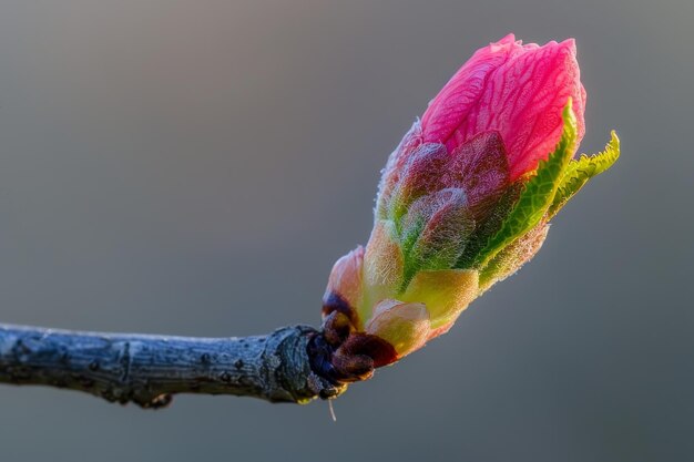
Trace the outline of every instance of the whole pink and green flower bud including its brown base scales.
{"type": "Polygon", "coordinates": [[[366,248],[334,266],[334,377],[368,377],[448,331],[542,246],[549,219],[619,156],[574,160],[585,92],[573,40],[479,50],[388,158],[366,248]]]}

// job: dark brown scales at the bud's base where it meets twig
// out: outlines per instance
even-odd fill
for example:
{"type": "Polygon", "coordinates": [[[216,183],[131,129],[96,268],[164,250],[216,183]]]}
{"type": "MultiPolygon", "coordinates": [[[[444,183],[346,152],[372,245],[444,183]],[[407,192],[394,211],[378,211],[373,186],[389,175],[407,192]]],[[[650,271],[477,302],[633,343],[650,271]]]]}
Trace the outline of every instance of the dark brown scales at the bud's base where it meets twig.
{"type": "Polygon", "coordinates": [[[323,315],[323,331],[315,333],[307,347],[310,366],[318,376],[334,384],[357,382],[397,360],[386,340],[357,331],[357,315],[339,295],[330,295],[323,315]]]}

